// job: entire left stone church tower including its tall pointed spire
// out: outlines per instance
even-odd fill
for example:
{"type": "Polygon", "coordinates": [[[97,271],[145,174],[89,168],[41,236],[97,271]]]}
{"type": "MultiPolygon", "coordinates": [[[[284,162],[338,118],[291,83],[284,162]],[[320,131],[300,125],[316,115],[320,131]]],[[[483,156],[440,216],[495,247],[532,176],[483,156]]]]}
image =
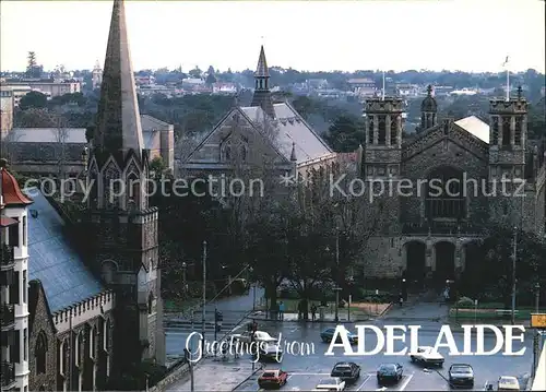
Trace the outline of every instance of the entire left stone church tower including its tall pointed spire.
{"type": "MultiPolygon", "coordinates": [[[[165,361],[158,212],[144,192],[144,150],[124,5],[114,1],[93,149],[87,165],[92,264],[116,293],[114,363],[165,361]]],[[[116,369],[115,369],[116,371],[116,369]]]]}

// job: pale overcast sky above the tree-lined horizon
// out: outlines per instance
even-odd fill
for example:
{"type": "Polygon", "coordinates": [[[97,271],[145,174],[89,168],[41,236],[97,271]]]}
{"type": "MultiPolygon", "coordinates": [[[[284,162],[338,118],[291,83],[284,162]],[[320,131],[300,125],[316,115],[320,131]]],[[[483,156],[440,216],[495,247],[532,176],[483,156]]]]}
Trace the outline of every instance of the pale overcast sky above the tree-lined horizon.
{"type": "MultiPolygon", "coordinates": [[[[104,61],[111,1],[0,2],[0,68],[104,61]]],[[[545,70],[544,0],[127,1],[135,70],[545,70]]]]}

